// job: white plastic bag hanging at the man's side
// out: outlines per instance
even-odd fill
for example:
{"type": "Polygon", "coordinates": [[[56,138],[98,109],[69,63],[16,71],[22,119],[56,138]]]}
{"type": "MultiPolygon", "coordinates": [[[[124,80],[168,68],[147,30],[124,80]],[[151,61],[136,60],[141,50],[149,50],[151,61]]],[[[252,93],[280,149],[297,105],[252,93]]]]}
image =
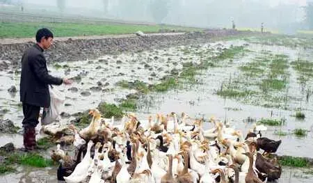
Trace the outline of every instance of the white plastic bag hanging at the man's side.
{"type": "Polygon", "coordinates": [[[61,113],[61,107],[65,101],[64,93],[56,90],[52,86],[49,86],[50,93],[50,107],[44,108],[42,112],[41,125],[49,125],[52,122],[58,120],[61,113]]]}

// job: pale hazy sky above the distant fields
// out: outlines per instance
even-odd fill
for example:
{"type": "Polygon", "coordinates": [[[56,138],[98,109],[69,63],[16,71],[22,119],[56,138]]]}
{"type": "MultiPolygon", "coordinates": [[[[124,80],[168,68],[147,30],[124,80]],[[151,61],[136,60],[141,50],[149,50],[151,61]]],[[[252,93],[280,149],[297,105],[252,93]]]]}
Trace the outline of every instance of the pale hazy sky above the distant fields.
{"type": "MultiPolygon", "coordinates": [[[[50,9],[60,13],[58,0],[13,1],[28,3],[29,10],[50,9]]],[[[313,0],[107,0],[106,8],[104,0],[64,1],[64,13],[69,15],[222,28],[232,26],[231,19],[234,19],[237,27],[259,28],[261,22],[265,22],[268,28],[298,29],[303,27],[305,19],[305,9],[301,6],[313,0]],[[164,8],[156,7],[160,5],[151,3],[153,1],[168,2],[168,12],[162,12],[164,8]],[[163,16],[161,21],[156,15],[163,16]]]]}

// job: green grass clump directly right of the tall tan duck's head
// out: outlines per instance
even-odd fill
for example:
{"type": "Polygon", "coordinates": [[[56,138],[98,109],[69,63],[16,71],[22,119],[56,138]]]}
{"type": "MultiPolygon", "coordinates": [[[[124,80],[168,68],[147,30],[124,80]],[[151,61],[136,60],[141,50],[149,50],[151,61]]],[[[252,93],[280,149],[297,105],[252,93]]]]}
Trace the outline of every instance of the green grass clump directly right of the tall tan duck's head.
{"type": "Polygon", "coordinates": [[[104,118],[111,118],[114,116],[115,118],[122,118],[123,111],[120,106],[116,106],[115,104],[108,104],[106,102],[102,102],[98,106],[99,111],[102,113],[104,118]]]}

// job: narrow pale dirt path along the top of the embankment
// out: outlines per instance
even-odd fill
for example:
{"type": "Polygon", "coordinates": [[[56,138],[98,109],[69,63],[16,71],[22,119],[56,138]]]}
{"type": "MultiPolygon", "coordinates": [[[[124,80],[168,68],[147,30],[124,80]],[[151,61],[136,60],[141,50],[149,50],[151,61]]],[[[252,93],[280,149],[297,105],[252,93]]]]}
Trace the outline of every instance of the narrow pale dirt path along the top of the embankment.
{"type": "MultiPolygon", "coordinates": [[[[152,35],[183,35],[184,33],[148,33],[147,36],[152,35]]],[[[54,38],[55,41],[72,40],[101,40],[106,38],[132,38],[136,37],[136,34],[120,34],[120,35],[89,35],[89,36],[70,36],[70,37],[58,37],[54,38]]],[[[0,45],[19,44],[24,42],[35,42],[35,38],[3,38],[0,39],[0,45]]]]}

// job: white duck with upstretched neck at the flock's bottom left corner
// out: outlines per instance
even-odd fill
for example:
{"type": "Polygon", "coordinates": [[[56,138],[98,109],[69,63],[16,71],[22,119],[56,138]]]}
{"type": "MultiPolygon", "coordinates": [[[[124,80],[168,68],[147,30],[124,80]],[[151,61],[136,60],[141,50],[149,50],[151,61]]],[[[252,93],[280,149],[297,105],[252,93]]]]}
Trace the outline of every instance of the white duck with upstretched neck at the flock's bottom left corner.
{"type": "Polygon", "coordinates": [[[68,183],[78,183],[86,179],[88,176],[88,168],[91,164],[91,157],[90,157],[90,150],[93,146],[93,141],[89,141],[87,144],[87,153],[85,154],[85,157],[83,157],[83,160],[79,164],[77,164],[76,168],[72,172],[70,176],[63,177],[64,180],[68,183]]]}

